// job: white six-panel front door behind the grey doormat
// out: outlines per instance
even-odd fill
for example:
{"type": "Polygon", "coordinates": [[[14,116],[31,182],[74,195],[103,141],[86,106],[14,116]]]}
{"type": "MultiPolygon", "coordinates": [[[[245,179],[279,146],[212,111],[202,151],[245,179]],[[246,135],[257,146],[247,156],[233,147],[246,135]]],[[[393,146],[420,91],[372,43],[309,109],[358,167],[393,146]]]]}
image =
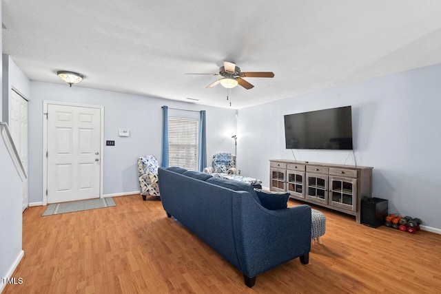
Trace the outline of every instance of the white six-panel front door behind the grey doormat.
{"type": "Polygon", "coordinates": [[[48,104],[48,203],[100,197],[101,109],[48,104]]]}

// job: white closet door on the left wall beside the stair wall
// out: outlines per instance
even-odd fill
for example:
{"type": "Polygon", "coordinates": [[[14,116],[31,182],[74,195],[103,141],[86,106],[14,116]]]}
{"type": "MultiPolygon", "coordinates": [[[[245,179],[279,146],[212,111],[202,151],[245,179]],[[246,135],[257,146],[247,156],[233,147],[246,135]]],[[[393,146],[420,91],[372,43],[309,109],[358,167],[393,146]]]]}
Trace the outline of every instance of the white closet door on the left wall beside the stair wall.
{"type": "MultiPolygon", "coordinates": [[[[11,91],[11,112],[10,112],[10,131],[14,145],[19,152],[21,164],[29,177],[28,169],[28,101],[11,91]]],[[[22,211],[29,206],[29,180],[23,181],[23,192],[21,196],[22,211]]]]}

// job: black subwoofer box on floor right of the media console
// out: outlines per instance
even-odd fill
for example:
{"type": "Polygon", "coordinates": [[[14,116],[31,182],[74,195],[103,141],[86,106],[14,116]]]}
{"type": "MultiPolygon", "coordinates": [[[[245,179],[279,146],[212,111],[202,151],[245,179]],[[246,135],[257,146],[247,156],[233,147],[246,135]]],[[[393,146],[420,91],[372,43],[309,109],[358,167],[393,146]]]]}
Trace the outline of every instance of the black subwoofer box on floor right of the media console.
{"type": "Polygon", "coordinates": [[[361,223],[369,227],[380,227],[387,217],[386,199],[365,198],[361,200],[361,223]]]}

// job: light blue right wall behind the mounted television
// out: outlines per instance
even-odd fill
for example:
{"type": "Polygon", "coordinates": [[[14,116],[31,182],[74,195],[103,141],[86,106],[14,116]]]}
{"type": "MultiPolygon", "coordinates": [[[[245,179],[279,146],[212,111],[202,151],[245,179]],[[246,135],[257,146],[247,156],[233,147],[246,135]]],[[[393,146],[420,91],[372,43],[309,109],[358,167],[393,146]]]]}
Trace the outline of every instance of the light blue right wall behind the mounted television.
{"type": "Polygon", "coordinates": [[[389,212],[441,230],[441,65],[423,67],[238,112],[238,168],[269,187],[270,159],[353,165],[350,151],[285,149],[283,116],[352,106],[358,165],[373,169],[373,196],[389,212]]]}

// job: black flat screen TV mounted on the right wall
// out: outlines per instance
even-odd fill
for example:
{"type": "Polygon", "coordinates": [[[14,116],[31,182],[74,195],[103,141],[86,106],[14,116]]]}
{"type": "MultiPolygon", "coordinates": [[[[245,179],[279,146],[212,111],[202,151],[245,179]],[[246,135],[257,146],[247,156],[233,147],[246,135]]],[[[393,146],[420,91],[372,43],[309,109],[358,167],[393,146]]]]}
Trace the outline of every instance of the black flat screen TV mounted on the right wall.
{"type": "Polygon", "coordinates": [[[352,149],[351,106],[285,115],[287,149],[352,149]]]}

